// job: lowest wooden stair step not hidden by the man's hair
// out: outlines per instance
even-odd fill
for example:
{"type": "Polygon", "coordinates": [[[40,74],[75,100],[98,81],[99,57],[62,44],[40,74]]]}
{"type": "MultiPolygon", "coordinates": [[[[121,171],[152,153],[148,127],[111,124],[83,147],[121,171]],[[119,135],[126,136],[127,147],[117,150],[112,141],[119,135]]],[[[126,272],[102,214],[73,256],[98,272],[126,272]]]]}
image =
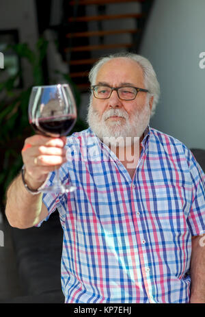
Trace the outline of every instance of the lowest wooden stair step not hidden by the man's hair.
{"type": "Polygon", "coordinates": [[[79,52],[79,51],[95,51],[98,49],[120,49],[120,47],[133,47],[135,44],[131,43],[115,43],[115,44],[105,44],[105,45],[87,45],[83,47],[71,47],[64,49],[65,52],[79,52]]]}

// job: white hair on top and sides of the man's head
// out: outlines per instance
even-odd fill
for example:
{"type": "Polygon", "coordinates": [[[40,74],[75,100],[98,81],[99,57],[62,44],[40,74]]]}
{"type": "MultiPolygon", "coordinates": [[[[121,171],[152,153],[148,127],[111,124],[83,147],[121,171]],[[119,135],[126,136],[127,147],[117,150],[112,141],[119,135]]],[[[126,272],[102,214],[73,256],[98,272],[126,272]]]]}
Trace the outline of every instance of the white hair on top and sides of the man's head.
{"type": "Polygon", "coordinates": [[[134,60],[141,66],[144,76],[144,85],[147,90],[149,90],[148,97],[154,97],[153,103],[152,103],[152,112],[151,116],[154,115],[156,104],[159,101],[160,96],[160,86],[159,82],[156,78],[156,73],[154,71],[154,68],[152,67],[152,64],[143,56],[137,55],[135,53],[115,53],[108,55],[107,57],[102,57],[94,66],[91,68],[89,73],[89,80],[91,85],[96,84],[96,77],[98,75],[98,71],[100,70],[100,67],[105,64],[106,62],[109,62],[109,60],[113,60],[113,58],[129,58],[131,60],[134,60]]]}

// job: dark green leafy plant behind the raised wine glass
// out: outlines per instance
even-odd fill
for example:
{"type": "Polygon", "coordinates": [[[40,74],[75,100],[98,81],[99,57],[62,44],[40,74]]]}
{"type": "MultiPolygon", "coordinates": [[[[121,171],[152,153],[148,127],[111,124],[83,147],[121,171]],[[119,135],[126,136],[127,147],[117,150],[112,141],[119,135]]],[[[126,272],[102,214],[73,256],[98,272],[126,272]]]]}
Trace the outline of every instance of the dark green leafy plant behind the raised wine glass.
{"type": "MultiPolygon", "coordinates": [[[[18,174],[23,162],[20,155],[24,140],[33,134],[27,116],[29,96],[32,86],[44,84],[44,75],[42,71],[42,62],[46,55],[48,42],[40,38],[36,44],[36,50],[32,51],[27,43],[13,45],[12,49],[20,58],[25,58],[31,65],[33,84],[29,88],[22,90],[15,89],[16,79],[20,73],[8,78],[0,83],[0,95],[3,96],[0,102],[0,192],[1,207],[5,205],[5,191],[8,185],[18,174]]],[[[0,74],[1,75],[1,74],[0,74]]],[[[80,106],[80,94],[77,87],[70,80],[69,75],[64,74],[65,81],[72,86],[74,97],[77,101],[77,107],[80,106]]],[[[53,84],[53,83],[52,83],[53,84]]],[[[84,129],[85,123],[78,118],[75,125],[75,131],[84,129]]]]}

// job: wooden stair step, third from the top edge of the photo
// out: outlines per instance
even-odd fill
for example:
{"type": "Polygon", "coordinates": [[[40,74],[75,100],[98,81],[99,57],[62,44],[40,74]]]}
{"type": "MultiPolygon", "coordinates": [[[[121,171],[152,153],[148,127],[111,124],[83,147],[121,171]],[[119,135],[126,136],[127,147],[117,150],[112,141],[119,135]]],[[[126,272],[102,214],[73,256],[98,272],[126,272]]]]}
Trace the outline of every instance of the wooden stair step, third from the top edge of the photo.
{"type": "Polygon", "coordinates": [[[84,38],[90,36],[105,36],[112,34],[135,34],[140,32],[141,29],[113,29],[107,31],[87,31],[87,32],[77,32],[77,33],[68,33],[66,34],[66,38],[84,38]]]}

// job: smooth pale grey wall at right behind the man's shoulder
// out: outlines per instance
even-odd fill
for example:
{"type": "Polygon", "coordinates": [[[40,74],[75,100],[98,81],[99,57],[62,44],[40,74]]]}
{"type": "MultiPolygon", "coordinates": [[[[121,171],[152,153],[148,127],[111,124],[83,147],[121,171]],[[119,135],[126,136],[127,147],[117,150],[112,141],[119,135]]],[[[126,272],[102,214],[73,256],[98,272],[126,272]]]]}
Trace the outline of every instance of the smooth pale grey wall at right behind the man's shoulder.
{"type": "Polygon", "coordinates": [[[141,45],[152,62],[161,101],[151,125],[189,148],[205,149],[205,1],[155,0],[141,45]]]}

